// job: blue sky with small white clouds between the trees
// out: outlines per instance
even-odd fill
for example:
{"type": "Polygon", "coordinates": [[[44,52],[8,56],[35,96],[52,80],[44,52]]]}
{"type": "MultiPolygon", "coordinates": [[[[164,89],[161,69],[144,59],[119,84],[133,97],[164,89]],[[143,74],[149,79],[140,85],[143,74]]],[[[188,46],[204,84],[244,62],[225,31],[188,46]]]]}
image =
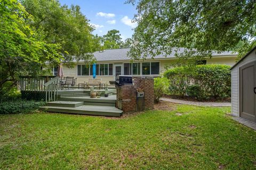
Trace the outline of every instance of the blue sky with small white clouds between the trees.
{"type": "Polygon", "coordinates": [[[131,38],[134,27],[133,15],[136,13],[135,6],[124,4],[125,0],[59,0],[61,5],[79,5],[81,12],[94,25],[94,35],[105,35],[109,30],[119,30],[123,40],[131,38]]]}

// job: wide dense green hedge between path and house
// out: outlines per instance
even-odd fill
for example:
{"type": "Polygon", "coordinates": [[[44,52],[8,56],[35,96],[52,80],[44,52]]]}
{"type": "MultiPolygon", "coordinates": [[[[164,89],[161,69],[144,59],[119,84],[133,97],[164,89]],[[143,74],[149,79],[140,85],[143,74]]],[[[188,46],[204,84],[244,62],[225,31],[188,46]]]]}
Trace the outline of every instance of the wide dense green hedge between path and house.
{"type": "Polygon", "coordinates": [[[198,100],[230,97],[230,66],[222,64],[175,67],[167,70],[164,77],[170,80],[172,95],[191,96],[198,100]]]}

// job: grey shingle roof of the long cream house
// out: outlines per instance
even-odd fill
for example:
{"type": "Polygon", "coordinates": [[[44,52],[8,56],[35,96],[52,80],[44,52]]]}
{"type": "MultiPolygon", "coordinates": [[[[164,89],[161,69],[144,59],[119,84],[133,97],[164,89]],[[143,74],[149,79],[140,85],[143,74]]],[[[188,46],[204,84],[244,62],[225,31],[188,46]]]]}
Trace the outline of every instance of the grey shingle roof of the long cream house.
{"type": "MultiPolygon", "coordinates": [[[[94,57],[97,61],[118,61],[118,60],[131,60],[131,58],[127,57],[127,52],[129,52],[130,48],[123,48],[123,49],[107,49],[104,52],[95,52],[93,53],[94,57]]],[[[185,48],[180,48],[177,53],[184,52],[185,48]]],[[[171,53],[165,57],[164,55],[157,55],[155,59],[163,59],[163,58],[174,58],[175,52],[171,53]]],[[[232,52],[222,52],[222,53],[213,53],[212,56],[227,56],[227,55],[237,55],[233,54],[232,52]]],[[[150,59],[151,56],[148,56],[147,59],[150,59]]]]}

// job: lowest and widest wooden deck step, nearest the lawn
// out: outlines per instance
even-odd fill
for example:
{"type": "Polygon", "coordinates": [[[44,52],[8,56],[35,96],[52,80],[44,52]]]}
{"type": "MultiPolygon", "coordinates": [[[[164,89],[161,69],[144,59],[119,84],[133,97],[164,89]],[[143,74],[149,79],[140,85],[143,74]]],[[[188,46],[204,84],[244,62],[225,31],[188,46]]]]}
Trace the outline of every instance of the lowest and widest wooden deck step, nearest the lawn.
{"type": "Polygon", "coordinates": [[[78,107],[60,107],[60,106],[43,106],[41,110],[47,112],[99,115],[99,116],[115,116],[119,117],[123,111],[113,106],[93,106],[83,105],[78,107]]]}

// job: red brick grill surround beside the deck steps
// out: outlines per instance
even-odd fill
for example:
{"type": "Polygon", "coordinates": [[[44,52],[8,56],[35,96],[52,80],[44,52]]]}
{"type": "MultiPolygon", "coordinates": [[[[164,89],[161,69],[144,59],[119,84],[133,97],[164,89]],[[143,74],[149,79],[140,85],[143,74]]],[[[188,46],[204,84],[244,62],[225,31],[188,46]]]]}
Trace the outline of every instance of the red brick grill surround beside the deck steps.
{"type": "Polygon", "coordinates": [[[134,85],[117,87],[116,107],[122,103],[124,113],[136,112],[137,88],[141,88],[145,94],[145,109],[154,108],[154,79],[153,77],[134,78],[134,85]]]}

